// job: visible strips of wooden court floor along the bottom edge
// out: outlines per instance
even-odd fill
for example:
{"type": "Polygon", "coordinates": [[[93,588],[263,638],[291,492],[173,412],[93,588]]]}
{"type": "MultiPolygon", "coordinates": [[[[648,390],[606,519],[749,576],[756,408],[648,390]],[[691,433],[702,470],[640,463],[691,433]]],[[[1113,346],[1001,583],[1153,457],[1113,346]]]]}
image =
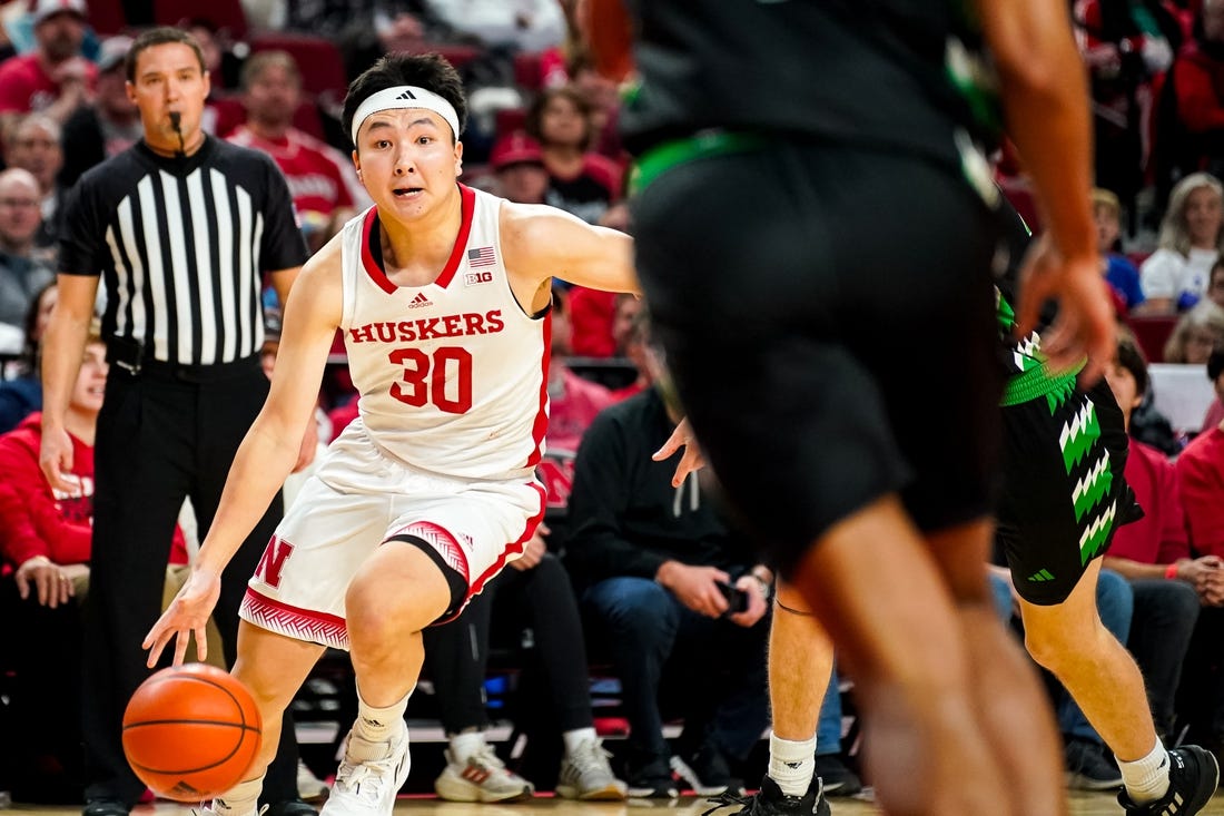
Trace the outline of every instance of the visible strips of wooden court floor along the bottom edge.
{"type": "MultiPolygon", "coordinates": [[[[1119,816],[1122,810],[1113,794],[1071,793],[1071,814],[1073,816],[1119,816]]],[[[832,799],[834,816],[875,816],[883,811],[868,801],[854,799],[832,799]]],[[[574,803],[551,796],[536,796],[528,803],[512,805],[481,805],[446,803],[432,798],[400,798],[395,804],[395,816],[701,816],[714,805],[701,796],[682,796],[671,803],[630,800],[628,803],[574,803]]],[[[0,810],[2,816],[80,816],[75,807],[33,807],[15,804],[9,810],[0,810]]],[[[738,807],[722,807],[712,816],[732,816],[738,807]]],[[[1206,810],[1204,816],[1224,816],[1224,793],[1206,810]]],[[[191,816],[192,809],[170,803],[141,805],[132,816],[191,816]]],[[[982,816],[990,816],[983,814],[982,816]]]]}

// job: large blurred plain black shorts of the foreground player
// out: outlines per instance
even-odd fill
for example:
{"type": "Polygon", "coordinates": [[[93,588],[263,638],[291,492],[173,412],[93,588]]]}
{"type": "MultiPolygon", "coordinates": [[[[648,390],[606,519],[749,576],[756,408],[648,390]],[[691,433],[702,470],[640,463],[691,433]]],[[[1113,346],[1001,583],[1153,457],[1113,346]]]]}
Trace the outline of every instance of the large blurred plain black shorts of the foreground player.
{"type": "Polygon", "coordinates": [[[925,531],[990,515],[999,223],[955,172],[780,141],[677,164],[632,207],[684,409],[783,575],[886,494],[925,531]]]}

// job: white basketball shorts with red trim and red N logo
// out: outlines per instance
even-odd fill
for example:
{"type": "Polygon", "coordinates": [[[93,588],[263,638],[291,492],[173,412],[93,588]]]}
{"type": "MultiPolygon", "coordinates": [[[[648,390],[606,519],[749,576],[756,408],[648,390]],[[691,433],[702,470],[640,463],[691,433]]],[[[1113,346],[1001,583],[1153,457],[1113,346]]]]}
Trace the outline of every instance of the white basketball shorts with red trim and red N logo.
{"type": "Polygon", "coordinates": [[[389,458],[360,428],[346,429],[324,457],[277,527],[240,611],[288,637],[348,649],[349,582],[393,537],[428,543],[466,580],[466,604],[523,554],[543,517],[543,488],[534,479],[425,473],[389,458]]]}

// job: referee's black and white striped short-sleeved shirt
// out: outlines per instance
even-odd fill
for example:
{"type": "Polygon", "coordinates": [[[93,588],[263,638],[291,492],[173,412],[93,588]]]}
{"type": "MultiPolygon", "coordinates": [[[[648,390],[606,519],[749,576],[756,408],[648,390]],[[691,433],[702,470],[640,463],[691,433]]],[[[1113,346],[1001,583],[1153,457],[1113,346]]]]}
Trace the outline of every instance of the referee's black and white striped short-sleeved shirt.
{"type": "Polygon", "coordinates": [[[140,341],[164,363],[258,352],[263,273],[305,260],[275,163],[212,137],[182,158],[138,142],[81,176],[65,202],[60,272],[104,276],[104,338],[140,341]]]}

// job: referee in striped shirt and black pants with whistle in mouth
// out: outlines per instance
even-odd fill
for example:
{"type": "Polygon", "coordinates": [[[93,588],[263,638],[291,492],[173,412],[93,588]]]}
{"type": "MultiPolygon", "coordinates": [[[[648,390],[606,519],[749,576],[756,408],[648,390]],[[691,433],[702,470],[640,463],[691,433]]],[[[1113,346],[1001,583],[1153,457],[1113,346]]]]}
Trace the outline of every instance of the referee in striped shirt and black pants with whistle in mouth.
{"type": "MultiPolygon", "coordinates": [[[[190,34],[141,34],[126,70],[144,138],[86,173],[67,198],[60,300],[43,352],[42,466],[60,486],[72,458],[64,414],[104,278],[110,376],[86,602],[86,816],[125,816],[144,790],[124,758],[121,723],[148,676],[141,640],[160,611],[179,508],[190,496],[203,537],[268,393],[262,274],[284,303],[306,260],[272,159],[201,130],[209,76],[190,34]]],[[[239,602],[280,513],[277,497],[222,582],[215,619],[230,664],[239,602]]],[[[297,800],[296,760],[286,722],[264,788],[277,816],[313,814],[297,800]]]]}

